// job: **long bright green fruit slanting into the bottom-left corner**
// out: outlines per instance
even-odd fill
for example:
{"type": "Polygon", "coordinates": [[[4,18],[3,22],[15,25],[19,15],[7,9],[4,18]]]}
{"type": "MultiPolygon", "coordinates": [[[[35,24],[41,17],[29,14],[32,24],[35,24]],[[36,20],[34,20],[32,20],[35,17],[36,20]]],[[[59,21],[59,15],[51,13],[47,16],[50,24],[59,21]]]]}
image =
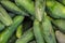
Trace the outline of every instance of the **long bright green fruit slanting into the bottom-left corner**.
{"type": "Polygon", "coordinates": [[[0,43],[6,43],[8,40],[11,38],[13,32],[16,30],[17,26],[23,22],[23,16],[16,16],[13,19],[12,26],[8,27],[0,35],[0,43]]]}

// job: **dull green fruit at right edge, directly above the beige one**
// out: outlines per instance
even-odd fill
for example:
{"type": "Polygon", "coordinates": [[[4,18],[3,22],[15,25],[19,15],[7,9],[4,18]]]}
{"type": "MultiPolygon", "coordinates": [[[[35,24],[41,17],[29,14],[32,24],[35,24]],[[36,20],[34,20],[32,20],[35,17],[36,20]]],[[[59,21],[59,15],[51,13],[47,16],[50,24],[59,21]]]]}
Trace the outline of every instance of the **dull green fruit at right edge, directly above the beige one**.
{"type": "Polygon", "coordinates": [[[54,19],[51,20],[58,29],[63,32],[65,32],[65,20],[64,19],[54,19]]]}

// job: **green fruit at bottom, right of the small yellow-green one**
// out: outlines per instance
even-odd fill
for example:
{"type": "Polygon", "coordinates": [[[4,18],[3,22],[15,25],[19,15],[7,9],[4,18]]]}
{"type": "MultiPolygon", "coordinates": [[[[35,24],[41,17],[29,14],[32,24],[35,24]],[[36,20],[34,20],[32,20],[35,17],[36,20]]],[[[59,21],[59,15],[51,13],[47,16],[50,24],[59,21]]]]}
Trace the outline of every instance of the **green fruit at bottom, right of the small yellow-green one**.
{"type": "Polygon", "coordinates": [[[27,30],[15,43],[28,43],[34,39],[34,32],[31,29],[27,30]]]}

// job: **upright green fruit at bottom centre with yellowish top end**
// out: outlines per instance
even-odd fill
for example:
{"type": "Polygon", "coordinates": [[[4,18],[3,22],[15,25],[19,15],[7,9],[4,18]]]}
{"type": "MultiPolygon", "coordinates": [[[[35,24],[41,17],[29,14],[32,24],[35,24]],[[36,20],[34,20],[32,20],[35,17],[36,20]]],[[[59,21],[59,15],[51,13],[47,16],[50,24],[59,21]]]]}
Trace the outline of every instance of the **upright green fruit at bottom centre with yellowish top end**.
{"type": "Polygon", "coordinates": [[[40,23],[37,20],[34,22],[34,33],[35,33],[37,43],[44,43],[41,28],[40,28],[40,23]]]}

